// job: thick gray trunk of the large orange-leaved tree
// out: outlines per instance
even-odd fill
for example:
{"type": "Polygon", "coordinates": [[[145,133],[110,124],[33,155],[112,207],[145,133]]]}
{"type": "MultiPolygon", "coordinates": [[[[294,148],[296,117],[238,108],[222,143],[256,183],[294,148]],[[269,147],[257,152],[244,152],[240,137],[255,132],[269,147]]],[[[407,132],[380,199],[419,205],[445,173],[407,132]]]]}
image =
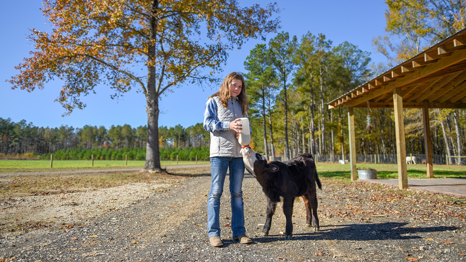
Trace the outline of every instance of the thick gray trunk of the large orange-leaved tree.
{"type": "Polygon", "coordinates": [[[151,31],[150,38],[153,42],[148,47],[148,60],[154,61],[147,66],[147,91],[146,91],[146,113],[147,113],[147,147],[144,169],[161,172],[160,152],[158,148],[158,93],[155,83],[155,43],[157,36],[156,16],[158,1],[152,3],[151,31]]]}

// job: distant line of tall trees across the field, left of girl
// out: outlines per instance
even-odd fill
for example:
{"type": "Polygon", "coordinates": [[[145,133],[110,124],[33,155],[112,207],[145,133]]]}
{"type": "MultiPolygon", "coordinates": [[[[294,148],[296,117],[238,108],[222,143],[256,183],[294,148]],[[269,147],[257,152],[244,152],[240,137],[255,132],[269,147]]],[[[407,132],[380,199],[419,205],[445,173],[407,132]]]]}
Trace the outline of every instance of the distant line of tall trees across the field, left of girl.
{"type": "MultiPolygon", "coordinates": [[[[210,143],[209,133],[204,130],[202,123],[188,128],[183,128],[181,125],[170,128],[161,126],[158,129],[158,134],[161,160],[170,157],[162,153],[167,151],[168,148],[171,148],[171,151],[175,148],[190,148],[187,149],[189,151],[188,155],[184,155],[187,159],[191,151],[196,150],[195,148],[206,147],[210,143]]],[[[73,152],[69,154],[74,154],[76,157],[82,155],[80,159],[88,159],[84,158],[83,155],[88,154],[89,150],[98,150],[99,152],[105,152],[99,153],[103,159],[121,159],[121,154],[123,154],[121,152],[124,151],[133,152],[130,153],[132,159],[144,160],[147,126],[131,128],[130,125],[126,124],[123,126],[112,125],[109,129],[104,126],[88,125],[83,128],[69,126],[44,128],[36,127],[31,122],[27,123],[26,120],[14,122],[10,118],[3,119],[0,117],[0,137],[0,156],[3,157],[21,155],[28,158],[31,154],[50,156],[51,153],[73,152]],[[115,154],[115,157],[113,157],[113,154],[115,154]]],[[[168,150],[170,152],[168,154],[172,153],[170,150],[168,150]]],[[[58,157],[58,155],[55,156],[58,157]]],[[[77,158],[70,156],[69,159],[77,158]]]]}

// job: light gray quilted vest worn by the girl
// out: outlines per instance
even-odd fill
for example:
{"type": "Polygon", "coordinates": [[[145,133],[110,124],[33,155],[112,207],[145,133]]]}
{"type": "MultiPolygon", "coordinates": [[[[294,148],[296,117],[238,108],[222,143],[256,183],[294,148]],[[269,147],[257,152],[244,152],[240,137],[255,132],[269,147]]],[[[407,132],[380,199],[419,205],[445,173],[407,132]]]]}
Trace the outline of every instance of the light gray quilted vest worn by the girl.
{"type": "MultiPolygon", "coordinates": [[[[222,105],[218,96],[212,97],[217,103],[217,117],[219,121],[231,122],[243,116],[240,102],[235,98],[228,98],[227,107],[222,105]]],[[[223,132],[210,133],[210,157],[226,156],[226,157],[243,157],[240,153],[241,145],[236,139],[234,130],[225,130],[223,132]]]]}

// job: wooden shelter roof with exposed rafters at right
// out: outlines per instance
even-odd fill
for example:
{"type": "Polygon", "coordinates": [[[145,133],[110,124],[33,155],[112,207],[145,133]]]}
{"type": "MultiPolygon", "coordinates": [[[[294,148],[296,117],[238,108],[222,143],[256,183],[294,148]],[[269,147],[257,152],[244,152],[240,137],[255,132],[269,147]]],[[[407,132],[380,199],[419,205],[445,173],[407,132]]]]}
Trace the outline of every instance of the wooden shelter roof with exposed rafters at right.
{"type": "Polygon", "coordinates": [[[391,93],[401,87],[406,107],[463,108],[465,81],[466,29],[463,29],[328,105],[366,107],[369,102],[370,107],[393,106],[391,93]]]}

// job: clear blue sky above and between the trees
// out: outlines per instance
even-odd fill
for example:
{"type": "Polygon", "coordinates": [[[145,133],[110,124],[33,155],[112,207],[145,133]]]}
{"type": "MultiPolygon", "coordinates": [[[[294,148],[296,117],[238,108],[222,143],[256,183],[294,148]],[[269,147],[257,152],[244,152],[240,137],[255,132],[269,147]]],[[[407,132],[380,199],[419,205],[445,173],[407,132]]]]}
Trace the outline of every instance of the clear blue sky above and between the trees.
{"type": "MultiPolygon", "coordinates": [[[[254,3],[265,7],[270,1],[240,0],[241,6],[254,3]]],[[[385,62],[381,54],[376,54],[371,40],[384,33],[387,8],[383,0],[276,0],[282,9],[280,31],[296,35],[301,39],[308,31],[312,34],[325,34],[334,46],[349,41],[363,51],[371,53],[372,62],[385,62]]],[[[49,32],[42,16],[41,1],[5,1],[0,16],[0,117],[11,118],[18,122],[22,119],[39,127],[60,127],[61,125],[82,128],[84,125],[105,126],[129,124],[135,128],[147,124],[145,97],[135,89],[118,100],[110,99],[113,94],[109,87],[96,87],[96,94],[82,98],[87,104],[83,110],[76,109],[71,115],[62,117],[64,109],[55,102],[61,90],[59,81],[46,83],[45,88],[31,93],[25,90],[11,90],[9,80],[18,72],[14,66],[29,57],[33,50],[26,37],[29,28],[49,32]]],[[[267,35],[267,42],[275,34],[267,35]]],[[[230,52],[223,74],[233,71],[244,72],[243,62],[249,51],[262,40],[249,40],[240,50],[230,52]]],[[[162,95],[159,126],[174,127],[181,124],[184,128],[202,122],[206,98],[218,90],[218,86],[201,87],[185,85],[173,93],[162,95]]]]}

